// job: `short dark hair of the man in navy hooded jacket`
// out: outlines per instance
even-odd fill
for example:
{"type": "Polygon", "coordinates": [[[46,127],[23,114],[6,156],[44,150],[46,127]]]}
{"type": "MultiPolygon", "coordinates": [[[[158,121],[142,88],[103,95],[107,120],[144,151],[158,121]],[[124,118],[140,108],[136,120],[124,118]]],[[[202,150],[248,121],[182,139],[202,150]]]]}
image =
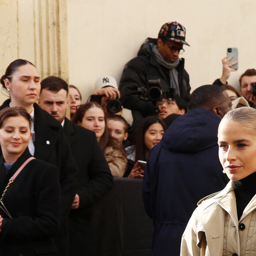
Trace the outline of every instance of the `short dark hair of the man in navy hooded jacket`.
{"type": "Polygon", "coordinates": [[[207,84],[196,88],[190,97],[191,109],[208,109],[214,106],[223,97],[224,89],[214,84],[207,84]]]}

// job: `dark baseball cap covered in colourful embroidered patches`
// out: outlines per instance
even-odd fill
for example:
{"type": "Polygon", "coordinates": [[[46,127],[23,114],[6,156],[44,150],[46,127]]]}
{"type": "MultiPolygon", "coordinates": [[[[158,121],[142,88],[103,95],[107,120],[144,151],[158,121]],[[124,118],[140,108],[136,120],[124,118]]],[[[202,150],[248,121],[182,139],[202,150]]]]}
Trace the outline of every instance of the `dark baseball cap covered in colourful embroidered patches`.
{"type": "Polygon", "coordinates": [[[190,46],[185,41],[185,34],[186,29],[180,23],[177,23],[176,21],[167,22],[161,27],[158,33],[158,38],[166,38],[167,40],[190,46]]]}

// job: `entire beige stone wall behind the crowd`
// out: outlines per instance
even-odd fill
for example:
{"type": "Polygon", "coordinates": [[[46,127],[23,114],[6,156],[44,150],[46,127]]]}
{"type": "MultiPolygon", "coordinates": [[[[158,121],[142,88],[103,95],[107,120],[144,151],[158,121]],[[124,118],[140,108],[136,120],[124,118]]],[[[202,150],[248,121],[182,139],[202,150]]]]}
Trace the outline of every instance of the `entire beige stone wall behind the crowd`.
{"type": "Polygon", "coordinates": [[[0,0],[0,74],[25,58],[42,78],[69,79],[85,101],[99,75],[119,81],[142,41],[176,20],[191,45],[182,56],[192,90],[221,75],[230,46],[238,47],[239,69],[229,82],[238,86],[239,75],[256,67],[255,10],[255,0],[0,0]]]}

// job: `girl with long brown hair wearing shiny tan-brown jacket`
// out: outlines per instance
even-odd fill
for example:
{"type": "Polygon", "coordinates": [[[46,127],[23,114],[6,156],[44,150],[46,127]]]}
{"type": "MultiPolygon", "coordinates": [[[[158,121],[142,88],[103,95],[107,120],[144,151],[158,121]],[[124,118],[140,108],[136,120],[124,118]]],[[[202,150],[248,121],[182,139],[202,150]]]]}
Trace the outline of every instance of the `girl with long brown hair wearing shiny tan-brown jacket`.
{"type": "Polygon", "coordinates": [[[109,136],[102,106],[96,102],[87,102],[79,106],[72,122],[95,132],[113,177],[123,177],[127,158],[122,143],[109,136]]]}

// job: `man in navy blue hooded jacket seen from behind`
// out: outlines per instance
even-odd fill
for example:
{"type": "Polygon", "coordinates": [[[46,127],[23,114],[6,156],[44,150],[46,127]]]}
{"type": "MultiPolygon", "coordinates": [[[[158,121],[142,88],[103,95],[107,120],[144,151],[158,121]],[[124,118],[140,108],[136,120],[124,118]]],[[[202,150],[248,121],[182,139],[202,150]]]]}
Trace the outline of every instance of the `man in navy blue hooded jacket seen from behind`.
{"type": "Polygon", "coordinates": [[[228,94],[204,85],[191,95],[192,110],[178,117],[150,151],[143,202],[154,224],[152,255],[180,255],[181,236],[197,202],[225,187],[218,159],[218,124],[231,110],[228,94]]]}

